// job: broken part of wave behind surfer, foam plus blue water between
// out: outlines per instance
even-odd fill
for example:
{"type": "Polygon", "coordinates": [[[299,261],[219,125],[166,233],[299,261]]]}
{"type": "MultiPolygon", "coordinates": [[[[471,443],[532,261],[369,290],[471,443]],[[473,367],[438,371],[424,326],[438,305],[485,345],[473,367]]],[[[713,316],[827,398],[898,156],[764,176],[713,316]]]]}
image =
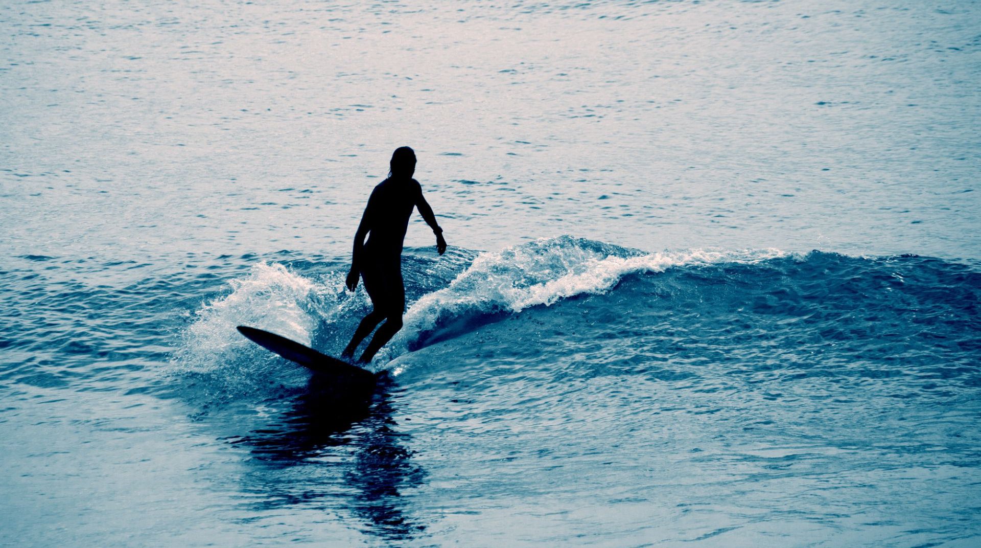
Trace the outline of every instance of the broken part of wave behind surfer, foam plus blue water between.
{"type": "MultiPolygon", "coordinates": [[[[410,302],[405,327],[381,353],[381,365],[406,352],[564,299],[603,294],[632,274],[654,274],[672,267],[755,264],[783,256],[779,250],[735,252],[693,249],[646,253],[569,236],[542,239],[502,251],[451,251],[442,261],[409,251],[403,273],[410,302]],[[442,289],[435,290],[441,287],[442,289]]],[[[196,312],[185,332],[178,362],[186,371],[213,371],[235,356],[265,351],[240,340],[235,325],[254,325],[337,353],[353,325],[371,309],[359,286],[345,294],[340,273],[305,276],[313,265],[287,268],[261,262],[230,282],[231,293],[196,312]]],[[[242,380],[250,375],[243,375],[242,380]]],[[[249,387],[251,390],[252,387],[249,387]]]]}

